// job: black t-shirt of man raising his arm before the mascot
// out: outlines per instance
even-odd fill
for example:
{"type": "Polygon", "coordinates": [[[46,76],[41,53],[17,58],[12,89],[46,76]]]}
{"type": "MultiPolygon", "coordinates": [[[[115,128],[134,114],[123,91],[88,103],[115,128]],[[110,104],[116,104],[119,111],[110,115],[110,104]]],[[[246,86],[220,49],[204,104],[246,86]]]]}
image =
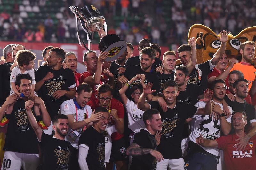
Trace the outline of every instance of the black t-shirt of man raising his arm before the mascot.
{"type": "Polygon", "coordinates": [[[210,60],[198,64],[198,66],[194,68],[190,73],[188,84],[196,84],[200,86],[202,90],[206,90],[208,83],[208,74],[210,72],[210,60]]]}

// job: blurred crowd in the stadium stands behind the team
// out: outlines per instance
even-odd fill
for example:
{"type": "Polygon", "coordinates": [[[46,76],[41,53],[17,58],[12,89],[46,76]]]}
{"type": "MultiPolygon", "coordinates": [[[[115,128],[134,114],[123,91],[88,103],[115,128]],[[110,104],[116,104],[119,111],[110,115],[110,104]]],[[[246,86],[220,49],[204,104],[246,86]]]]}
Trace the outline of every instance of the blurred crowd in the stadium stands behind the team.
{"type": "MultiPolygon", "coordinates": [[[[35,27],[27,27],[24,19],[30,16],[26,13],[40,16],[47,0],[24,0],[22,4],[15,1],[11,10],[4,9],[0,14],[1,39],[77,43],[71,5],[81,8],[93,4],[105,17],[108,34],[117,34],[132,44],[148,38],[162,46],[187,42],[189,28],[196,23],[216,33],[228,29],[236,35],[255,25],[256,16],[255,0],[65,0],[64,3],[57,0],[56,3],[62,7],[52,11],[54,15],[45,17],[44,22],[38,22],[35,27]]],[[[85,37],[82,29],[80,34],[85,37]]]]}

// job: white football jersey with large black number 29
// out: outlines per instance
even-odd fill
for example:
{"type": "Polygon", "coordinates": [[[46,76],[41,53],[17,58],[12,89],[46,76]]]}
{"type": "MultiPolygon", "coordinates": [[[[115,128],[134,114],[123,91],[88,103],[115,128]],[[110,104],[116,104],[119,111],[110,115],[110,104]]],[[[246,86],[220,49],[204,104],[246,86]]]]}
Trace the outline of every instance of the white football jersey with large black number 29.
{"type": "MultiPolygon", "coordinates": [[[[213,101],[214,102],[214,101],[213,101]]],[[[214,102],[216,103],[216,102],[214,102]]],[[[216,103],[220,105],[221,109],[223,109],[222,104],[216,103]]],[[[195,104],[198,108],[204,108],[205,107],[204,102],[197,102],[195,104]]],[[[230,112],[232,113],[232,108],[229,107],[230,112]]],[[[196,138],[199,137],[201,134],[203,138],[206,139],[217,139],[220,137],[220,120],[219,118],[217,120],[213,119],[212,114],[211,115],[194,115],[194,123],[191,127],[193,127],[191,130],[191,134],[189,135],[189,139],[196,143],[196,138]]],[[[232,114],[227,118],[227,122],[231,122],[232,114]]],[[[201,146],[201,145],[200,145],[201,146]]],[[[218,156],[219,155],[219,149],[216,148],[205,148],[201,146],[205,151],[218,156]]]]}

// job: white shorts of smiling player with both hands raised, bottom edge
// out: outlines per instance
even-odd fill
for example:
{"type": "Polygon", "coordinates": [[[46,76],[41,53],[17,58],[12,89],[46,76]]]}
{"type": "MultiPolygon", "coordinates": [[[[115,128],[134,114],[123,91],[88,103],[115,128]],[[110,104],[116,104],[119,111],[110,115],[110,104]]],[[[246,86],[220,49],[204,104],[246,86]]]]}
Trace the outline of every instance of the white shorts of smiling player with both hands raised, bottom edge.
{"type": "Polygon", "coordinates": [[[184,167],[185,162],[183,158],[180,159],[164,159],[161,162],[157,162],[156,170],[186,170],[184,167]]]}

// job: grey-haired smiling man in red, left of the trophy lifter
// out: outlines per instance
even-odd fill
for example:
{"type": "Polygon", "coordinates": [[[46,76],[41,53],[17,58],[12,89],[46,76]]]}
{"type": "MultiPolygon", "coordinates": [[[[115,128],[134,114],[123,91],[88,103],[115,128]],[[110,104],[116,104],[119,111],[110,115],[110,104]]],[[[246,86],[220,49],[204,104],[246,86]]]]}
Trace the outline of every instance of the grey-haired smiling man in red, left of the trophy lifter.
{"type": "Polygon", "coordinates": [[[76,72],[76,68],[77,68],[77,57],[76,57],[76,54],[73,53],[73,52],[67,52],[63,62],[66,64],[66,66],[68,68],[70,68],[73,71],[74,76],[75,76],[76,89],[77,89],[77,87],[80,84],[81,73],[77,73],[76,72]]]}

